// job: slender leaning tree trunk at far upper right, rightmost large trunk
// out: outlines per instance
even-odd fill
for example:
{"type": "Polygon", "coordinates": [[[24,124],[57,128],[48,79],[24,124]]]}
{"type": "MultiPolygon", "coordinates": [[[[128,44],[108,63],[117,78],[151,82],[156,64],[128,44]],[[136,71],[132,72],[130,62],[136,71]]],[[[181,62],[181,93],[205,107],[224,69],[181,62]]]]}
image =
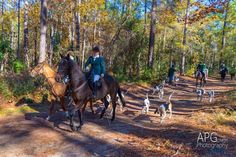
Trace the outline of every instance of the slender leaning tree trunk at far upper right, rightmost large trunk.
{"type": "Polygon", "coordinates": [[[223,24],[223,31],[222,31],[222,41],[221,41],[221,51],[220,51],[220,64],[223,62],[223,52],[225,49],[225,29],[227,26],[227,17],[228,17],[228,10],[229,10],[229,2],[230,0],[228,0],[226,7],[225,7],[225,17],[224,17],[224,24],[223,24]]]}

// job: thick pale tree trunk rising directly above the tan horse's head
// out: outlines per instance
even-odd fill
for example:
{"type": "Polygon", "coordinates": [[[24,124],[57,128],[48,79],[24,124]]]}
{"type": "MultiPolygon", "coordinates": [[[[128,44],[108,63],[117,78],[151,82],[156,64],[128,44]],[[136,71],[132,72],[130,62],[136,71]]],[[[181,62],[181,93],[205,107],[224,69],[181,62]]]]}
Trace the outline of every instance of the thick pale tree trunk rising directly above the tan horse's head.
{"type": "Polygon", "coordinates": [[[47,1],[41,0],[39,63],[46,60],[47,1]]]}

